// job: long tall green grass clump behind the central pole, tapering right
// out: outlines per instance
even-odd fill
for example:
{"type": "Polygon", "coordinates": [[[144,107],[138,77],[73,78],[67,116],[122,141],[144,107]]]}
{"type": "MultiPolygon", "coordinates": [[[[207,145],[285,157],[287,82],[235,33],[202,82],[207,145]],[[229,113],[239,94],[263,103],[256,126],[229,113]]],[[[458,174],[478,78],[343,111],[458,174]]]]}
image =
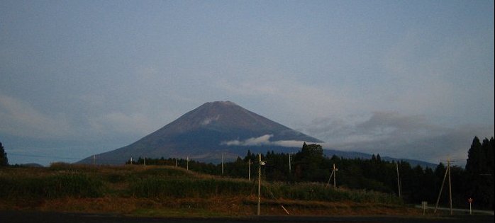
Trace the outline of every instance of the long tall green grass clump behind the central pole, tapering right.
{"type": "MultiPolygon", "coordinates": [[[[257,183],[230,179],[166,179],[145,178],[130,186],[139,198],[211,198],[214,196],[243,196],[257,193],[257,183]]],[[[263,183],[262,197],[307,201],[352,201],[381,204],[401,204],[394,195],[367,190],[333,190],[322,183],[263,183]]]]}

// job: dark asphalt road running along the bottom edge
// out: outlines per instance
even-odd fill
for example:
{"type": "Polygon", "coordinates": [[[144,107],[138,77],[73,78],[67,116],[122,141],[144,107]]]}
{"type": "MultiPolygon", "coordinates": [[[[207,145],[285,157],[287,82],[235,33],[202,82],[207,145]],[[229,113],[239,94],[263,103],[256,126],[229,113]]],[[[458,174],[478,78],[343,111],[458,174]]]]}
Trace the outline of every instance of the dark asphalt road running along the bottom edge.
{"type": "Polygon", "coordinates": [[[262,216],[240,218],[155,218],[155,217],[126,217],[121,215],[94,215],[79,213],[57,212],[20,212],[0,211],[1,223],[148,223],[148,222],[339,222],[339,223],[447,223],[447,222],[486,222],[493,223],[493,215],[459,215],[454,217],[389,217],[389,216],[362,216],[362,217],[306,217],[306,216],[262,216]]]}

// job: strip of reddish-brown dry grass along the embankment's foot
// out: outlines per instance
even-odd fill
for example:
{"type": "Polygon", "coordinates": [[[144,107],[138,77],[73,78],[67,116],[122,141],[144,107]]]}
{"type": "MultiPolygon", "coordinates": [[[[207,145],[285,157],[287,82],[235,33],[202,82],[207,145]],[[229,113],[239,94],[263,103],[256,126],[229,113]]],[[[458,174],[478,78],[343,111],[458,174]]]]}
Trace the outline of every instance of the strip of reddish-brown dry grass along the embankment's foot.
{"type": "MultiPolygon", "coordinates": [[[[52,212],[114,213],[148,217],[250,216],[257,198],[216,197],[208,199],[153,200],[145,198],[62,198],[48,200],[35,210],[52,212]]],[[[419,210],[396,205],[356,202],[307,202],[262,200],[262,215],[421,215],[419,210]]]]}

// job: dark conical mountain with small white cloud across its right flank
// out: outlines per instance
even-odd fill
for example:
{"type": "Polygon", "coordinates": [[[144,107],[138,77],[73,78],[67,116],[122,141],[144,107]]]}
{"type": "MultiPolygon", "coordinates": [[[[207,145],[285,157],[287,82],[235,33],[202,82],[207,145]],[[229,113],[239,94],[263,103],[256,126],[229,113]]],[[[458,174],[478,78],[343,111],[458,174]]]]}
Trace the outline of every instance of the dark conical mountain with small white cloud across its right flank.
{"type": "MultiPolygon", "coordinates": [[[[230,101],[204,103],[160,130],[126,147],[97,154],[98,164],[122,164],[134,157],[181,157],[216,161],[251,151],[300,148],[302,142],[321,140],[269,120],[230,101]],[[290,145],[288,145],[290,144],[290,145]],[[294,144],[294,147],[291,146],[294,144]]],[[[93,156],[82,163],[92,163],[93,156]]]]}

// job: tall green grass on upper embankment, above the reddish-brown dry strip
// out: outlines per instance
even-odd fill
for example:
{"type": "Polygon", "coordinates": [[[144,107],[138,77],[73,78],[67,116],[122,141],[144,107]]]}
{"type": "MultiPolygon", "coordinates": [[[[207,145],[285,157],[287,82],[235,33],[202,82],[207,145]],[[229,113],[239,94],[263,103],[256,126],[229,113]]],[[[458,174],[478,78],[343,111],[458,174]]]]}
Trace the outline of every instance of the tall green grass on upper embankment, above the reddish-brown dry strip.
{"type": "MultiPolygon", "coordinates": [[[[246,198],[255,194],[255,181],[197,176],[190,171],[172,167],[53,164],[50,168],[33,171],[0,171],[0,198],[6,199],[99,198],[105,195],[162,199],[219,196],[246,198]]],[[[401,200],[394,195],[369,190],[333,190],[322,183],[263,182],[262,197],[275,200],[401,204],[401,200]]]]}

